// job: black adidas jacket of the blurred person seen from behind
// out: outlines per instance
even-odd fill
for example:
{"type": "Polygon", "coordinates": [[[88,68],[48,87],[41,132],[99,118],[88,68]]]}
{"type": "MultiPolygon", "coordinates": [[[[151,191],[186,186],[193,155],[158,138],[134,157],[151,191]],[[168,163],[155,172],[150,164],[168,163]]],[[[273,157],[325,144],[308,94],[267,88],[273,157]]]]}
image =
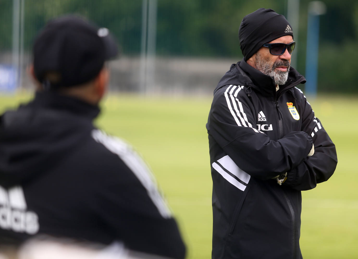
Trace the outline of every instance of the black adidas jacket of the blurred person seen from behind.
{"type": "Polygon", "coordinates": [[[184,258],[150,170],[129,145],[93,126],[98,112],[38,92],[0,117],[0,244],[48,234],[184,258]]]}

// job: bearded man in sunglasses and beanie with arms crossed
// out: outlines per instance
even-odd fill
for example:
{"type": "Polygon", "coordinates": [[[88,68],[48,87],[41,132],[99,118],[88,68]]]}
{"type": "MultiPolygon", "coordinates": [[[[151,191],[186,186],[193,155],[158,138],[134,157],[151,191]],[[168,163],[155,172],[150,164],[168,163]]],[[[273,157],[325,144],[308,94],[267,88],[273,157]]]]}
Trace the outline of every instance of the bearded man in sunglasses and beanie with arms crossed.
{"type": "Polygon", "coordinates": [[[327,181],[337,153],[296,86],[293,31],[260,8],[239,29],[243,59],[214,90],[206,125],[213,179],[213,259],[302,258],[301,191],[327,181]]]}

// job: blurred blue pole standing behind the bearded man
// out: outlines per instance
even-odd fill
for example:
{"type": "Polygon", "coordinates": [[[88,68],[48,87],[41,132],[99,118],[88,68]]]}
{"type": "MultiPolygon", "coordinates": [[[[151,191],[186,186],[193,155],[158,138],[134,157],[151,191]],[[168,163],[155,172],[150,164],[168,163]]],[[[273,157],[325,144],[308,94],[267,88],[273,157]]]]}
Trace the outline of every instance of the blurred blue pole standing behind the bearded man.
{"type": "Polygon", "coordinates": [[[307,95],[315,97],[317,94],[319,15],[308,13],[307,49],[306,49],[306,86],[307,95]]]}

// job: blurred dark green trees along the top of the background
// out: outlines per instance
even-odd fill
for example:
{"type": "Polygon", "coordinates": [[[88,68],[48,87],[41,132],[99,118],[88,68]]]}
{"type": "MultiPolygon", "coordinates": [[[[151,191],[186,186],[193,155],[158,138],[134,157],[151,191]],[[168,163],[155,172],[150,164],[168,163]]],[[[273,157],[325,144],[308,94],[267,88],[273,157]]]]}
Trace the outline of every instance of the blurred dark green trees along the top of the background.
{"type": "MultiPolygon", "coordinates": [[[[14,0],[13,0],[14,1],[14,0]]],[[[13,1],[0,0],[0,50],[11,51],[13,1]]],[[[307,11],[301,0],[297,70],[305,71],[307,11]]],[[[29,51],[36,33],[51,18],[75,13],[109,28],[125,55],[141,51],[142,0],[23,0],[24,48],[29,51]]],[[[320,17],[319,87],[321,91],[357,92],[358,1],[324,0],[320,17]],[[339,87],[338,87],[339,85],[339,87]]],[[[240,22],[258,8],[286,15],[287,0],[158,0],[156,53],[160,56],[237,57],[240,22]]]]}

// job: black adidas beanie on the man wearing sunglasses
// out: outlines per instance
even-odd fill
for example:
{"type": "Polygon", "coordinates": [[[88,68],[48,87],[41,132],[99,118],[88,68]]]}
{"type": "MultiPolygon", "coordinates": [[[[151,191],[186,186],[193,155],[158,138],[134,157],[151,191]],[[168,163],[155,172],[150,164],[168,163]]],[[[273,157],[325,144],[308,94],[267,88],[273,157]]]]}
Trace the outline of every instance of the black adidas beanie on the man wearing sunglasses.
{"type": "Polygon", "coordinates": [[[246,15],[240,24],[239,40],[245,61],[252,57],[263,44],[293,33],[285,16],[272,9],[260,8],[246,15]]]}

